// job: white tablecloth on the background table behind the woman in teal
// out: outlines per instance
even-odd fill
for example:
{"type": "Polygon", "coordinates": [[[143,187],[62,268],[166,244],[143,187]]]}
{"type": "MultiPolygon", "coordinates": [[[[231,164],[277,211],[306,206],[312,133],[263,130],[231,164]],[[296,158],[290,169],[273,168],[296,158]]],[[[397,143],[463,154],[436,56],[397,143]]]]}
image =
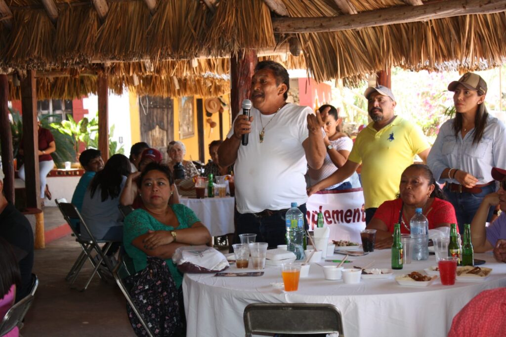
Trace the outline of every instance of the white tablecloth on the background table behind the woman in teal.
{"type": "Polygon", "coordinates": [[[234,232],[234,200],[224,198],[186,198],[180,197],[179,202],[191,208],[212,236],[220,236],[234,232]]]}

